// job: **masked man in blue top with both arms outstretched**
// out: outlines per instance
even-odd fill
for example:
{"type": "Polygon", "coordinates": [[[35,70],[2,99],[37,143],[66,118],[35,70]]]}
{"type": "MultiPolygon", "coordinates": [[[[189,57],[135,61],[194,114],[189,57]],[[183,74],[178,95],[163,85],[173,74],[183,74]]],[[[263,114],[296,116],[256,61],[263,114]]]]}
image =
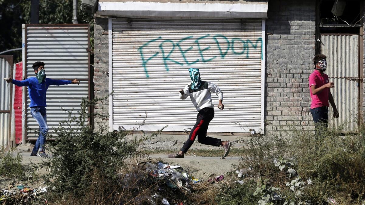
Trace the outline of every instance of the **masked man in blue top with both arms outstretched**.
{"type": "Polygon", "coordinates": [[[14,79],[5,79],[6,82],[11,82],[17,86],[28,86],[28,93],[30,98],[30,113],[37,121],[39,125],[39,137],[35,146],[33,148],[31,156],[48,157],[45,153],[44,144],[46,142],[46,135],[48,133],[48,125],[47,125],[47,113],[46,113],[46,93],[47,89],[50,85],[68,85],[68,84],[80,84],[80,81],[77,79],[73,81],[69,80],[53,80],[50,78],[46,78],[45,72],[45,63],[43,62],[35,62],[33,64],[34,73],[36,77],[27,78],[23,81],[18,81],[14,79]]]}

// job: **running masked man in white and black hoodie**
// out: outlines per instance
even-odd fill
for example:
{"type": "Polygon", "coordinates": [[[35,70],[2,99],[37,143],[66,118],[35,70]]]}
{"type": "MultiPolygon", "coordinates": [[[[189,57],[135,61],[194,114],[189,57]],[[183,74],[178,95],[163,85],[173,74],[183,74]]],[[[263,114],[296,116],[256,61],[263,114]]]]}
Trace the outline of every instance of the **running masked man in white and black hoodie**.
{"type": "Polygon", "coordinates": [[[208,125],[214,117],[214,105],[212,103],[211,92],[215,93],[219,98],[218,108],[223,110],[223,92],[214,83],[209,81],[201,81],[199,69],[190,68],[189,69],[191,84],[185,86],[181,89],[180,99],[185,100],[190,96],[190,100],[194,104],[198,115],[196,117],[196,123],[190,132],[188,140],[185,142],[183,148],[175,154],[169,154],[168,158],[184,158],[184,154],[187,153],[189,148],[198,137],[198,142],[201,144],[207,144],[212,146],[223,146],[224,154],[226,157],[229,153],[231,147],[231,141],[222,141],[220,139],[211,138],[207,136],[208,125]]]}

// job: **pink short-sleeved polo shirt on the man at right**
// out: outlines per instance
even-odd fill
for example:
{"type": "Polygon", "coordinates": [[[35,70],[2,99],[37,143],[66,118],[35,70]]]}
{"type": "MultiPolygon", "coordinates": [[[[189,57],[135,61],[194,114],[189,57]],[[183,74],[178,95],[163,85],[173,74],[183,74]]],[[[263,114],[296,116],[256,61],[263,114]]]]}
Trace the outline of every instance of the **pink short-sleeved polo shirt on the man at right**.
{"type": "MultiPolygon", "coordinates": [[[[313,73],[309,76],[309,88],[311,88],[312,85],[315,85],[316,88],[319,88],[320,86],[327,84],[330,82],[328,80],[327,74],[321,74],[319,70],[314,70],[313,73]]],[[[329,106],[328,104],[328,93],[330,92],[329,88],[324,88],[321,92],[317,94],[312,94],[312,90],[309,89],[311,92],[311,109],[313,108],[319,108],[323,106],[329,106]]]]}

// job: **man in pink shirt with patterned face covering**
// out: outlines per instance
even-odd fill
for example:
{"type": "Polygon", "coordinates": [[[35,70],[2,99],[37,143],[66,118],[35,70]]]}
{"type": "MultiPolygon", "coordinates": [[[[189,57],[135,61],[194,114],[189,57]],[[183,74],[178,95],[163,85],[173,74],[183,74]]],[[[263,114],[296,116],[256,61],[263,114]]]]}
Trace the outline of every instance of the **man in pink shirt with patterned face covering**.
{"type": "Polygon", "coordinates": [[[338,118],[338,111],[333,100],[330,88],[334,88],[334,82],[329,82],[328,76],[323,72],[327,69],[326,55],[317,54],[313,62],[315,70],[309,76],[309,87],[312,98],[311,113],[315,123],[316,134],[321,129],[328,127],[328,101],[333,108],[333,117],[338,118]]]}

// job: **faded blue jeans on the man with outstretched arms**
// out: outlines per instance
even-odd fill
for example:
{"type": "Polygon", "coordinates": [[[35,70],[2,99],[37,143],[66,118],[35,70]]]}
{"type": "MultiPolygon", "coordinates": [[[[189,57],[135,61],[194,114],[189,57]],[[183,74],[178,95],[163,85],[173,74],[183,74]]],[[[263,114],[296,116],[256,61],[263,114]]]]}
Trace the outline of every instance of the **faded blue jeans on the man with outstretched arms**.
{"type": "Polygon", "coordinates": [[[44,145],[48,133],[47,112],[46,108],[30,108],[30,113],[39,125],[39,137],[32,151],[33,154],[37,154],[38,150],[40,152],[45,151],[44,145]]]}

